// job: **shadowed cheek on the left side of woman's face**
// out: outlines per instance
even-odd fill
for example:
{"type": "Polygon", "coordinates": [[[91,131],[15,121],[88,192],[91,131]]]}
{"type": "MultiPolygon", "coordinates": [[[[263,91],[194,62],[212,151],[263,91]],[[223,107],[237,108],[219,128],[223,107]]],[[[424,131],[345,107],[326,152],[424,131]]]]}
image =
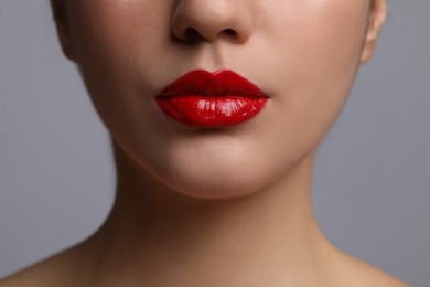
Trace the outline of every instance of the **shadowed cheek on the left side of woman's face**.
{"type": "MultiPolygon", "coordinates": [[[[97,111],[114,134],[123,130],[126,121],[144,123],[154,108],[142,105],[142,98],[153,96],[163,82],[155,68],[169,41],[171,12],[163,2],[69,1],[79,68],[97,111]]],[[[135,126],[139,125],[130,129],[139,128],[135,126]]]]}

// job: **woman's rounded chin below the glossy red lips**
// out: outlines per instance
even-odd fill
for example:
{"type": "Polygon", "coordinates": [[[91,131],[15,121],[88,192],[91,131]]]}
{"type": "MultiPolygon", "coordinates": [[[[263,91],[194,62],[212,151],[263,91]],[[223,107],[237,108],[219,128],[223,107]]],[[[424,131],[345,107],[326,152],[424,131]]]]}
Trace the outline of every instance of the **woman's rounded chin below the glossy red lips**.
{"type": "Polygon", "coordinates": [[[244,145],[228,145],[225,149],[217,146],[205,151],[198,148],[176,150],[170,160],[161,161],[169,164],[158,168],[154,174],[169,190],[190,198],[214,200],[264,192],[287,177],[288,170],[298,163],[281,161],[279,155],[252,153],[244,145]]]}

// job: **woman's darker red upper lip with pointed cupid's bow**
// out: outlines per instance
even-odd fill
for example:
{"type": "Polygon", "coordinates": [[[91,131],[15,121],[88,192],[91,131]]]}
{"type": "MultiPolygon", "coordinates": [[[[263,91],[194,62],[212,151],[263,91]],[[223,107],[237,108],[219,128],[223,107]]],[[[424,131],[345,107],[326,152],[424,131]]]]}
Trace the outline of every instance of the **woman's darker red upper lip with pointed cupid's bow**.
{"type": "Polygon", "coordinates": [[[176,97],[190,95],[207,97],[267,97],[255,84],[232,70],[219,70],[213,73],[205,70],[191,71],[168,85],[159,96],[176,97]]]}

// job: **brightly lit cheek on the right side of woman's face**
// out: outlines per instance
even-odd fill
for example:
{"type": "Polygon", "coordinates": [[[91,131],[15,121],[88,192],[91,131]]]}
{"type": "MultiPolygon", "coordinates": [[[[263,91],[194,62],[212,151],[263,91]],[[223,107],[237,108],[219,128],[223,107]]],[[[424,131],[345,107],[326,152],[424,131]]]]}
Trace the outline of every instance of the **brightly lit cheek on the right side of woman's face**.
{"type": "Polygon", "coordinates": [[[297,139],[295,146],[310,150],[336,119],[351,89],[368,6],[363,0],[293,2],[294,9],[283,11],[290,12],[266,14],[269,33],[260,38],[272,51],[265,62],[271,75],[280,77],[266,78],[276,95],[273,114],[297,139]],[[270,25],[269,19],[276,23],[270,25]]]}

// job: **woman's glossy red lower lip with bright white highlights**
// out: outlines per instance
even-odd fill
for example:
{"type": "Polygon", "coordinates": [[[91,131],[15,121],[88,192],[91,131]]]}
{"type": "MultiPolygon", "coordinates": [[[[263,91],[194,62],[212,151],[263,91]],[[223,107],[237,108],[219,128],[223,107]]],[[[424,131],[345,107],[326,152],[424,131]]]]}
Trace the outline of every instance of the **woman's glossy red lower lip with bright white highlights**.
{"type": "Polygon", "coordinates": [[[192,127],[229,127],[247,121],[265,107],[266,97],[184,95],[157,97],[169,117],[192,127]]]}

